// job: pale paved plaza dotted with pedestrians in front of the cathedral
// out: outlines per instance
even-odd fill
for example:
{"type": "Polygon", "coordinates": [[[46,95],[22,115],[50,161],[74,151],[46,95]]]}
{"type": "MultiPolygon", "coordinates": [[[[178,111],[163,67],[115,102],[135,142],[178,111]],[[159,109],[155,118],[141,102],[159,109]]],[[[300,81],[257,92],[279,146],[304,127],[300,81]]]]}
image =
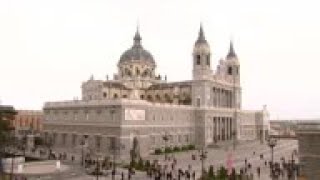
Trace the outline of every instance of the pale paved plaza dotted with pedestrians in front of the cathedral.
{"type": "MultiPolygon", "coordinates": [[[[295,160],[295,163],[298,163],[298,156],[292,156],[292,153],[297,150],[297,141],[296,140],[279,140],[277,145],[274,148],[274,162],[281,162],[281,159],[284,158],[286,162],[290,162],[292,158],[295,160]]],[[[214,170],[217,171],[221,166],[227,167],[227,159],[228,155],[232,154],[232,167],[236,169],[239,173],[240,169],[244,169],[246,164],[250,164],[251,168],[247,170],[247,174],[253,174],[254,179],[261,179],[261,180],[269,180],[270,177],[270,167],[269,165],[265,165],[265,162],[271,161],[271,152],[270,147],[267,144],[261,144],[259,141],[250,141],[250,142],[243,142],[236,146],[236,149],[230,149],[228,145],[221,146],[219,148],[208,148],[207,151],[207,158],[204,160],[204,169],[208,169],[210,165],[214,167],[214,170]],[[260,156],[263,155],[263,158],[260,156]],[[261,168],[260,177],[258,177],[256,169],[261,168]]],[[[146,158],[146,160],[158,160],[159,164],[164,167],[165,165],[170,166],[173,162],[173,159],[176,159],[176,168],[175,173],[178,174],[178,170],[181,169],[182,171],[190,170],[195,172],[196,179],[199,179],[201,176],[201,160],[199,156],[199,151],[194,150],[190,152],[178,152],[178,153],[170,153],[168,155],[171,160],[164,160],[164,155],[151,155],[146,158]],[[196,159],[192,159],[192,155],[196,156],[196,159]]],[[[65,164],[69,167],[69,169],[65,172],[61,172],[59,174],[48,174],[46,179],[66,179],[66,180],[93,180],[97,179],[97,176],[88,175],[85,173],[83,167],[81,167],[81,158],[76,157],[74,161],[70,158],[61,161],[62,164],[65,164]]],[[[46,169],[46,167],[39,167],[38,171],[41,172],[46,169]]],[[[116,176],[115,179],[121,180],[121,173],[124,174],[124,179],[128,179],[128,170],[122,168],[121,166],[116,167],[116,176]]],[[[285,172],[285,171],[284,171],[285,172]]],[[[33,176],[34,179],[37,176],[33,176]]],[[[111,179],[111,171],[109,171],[108,175],[100,175],[98,179],[111,179]]],[[[175,177],[178,179],[178,175],[175,177]]],[[[279,177],[282,180],[286,180],[287,174],[286,172],[283,176],[279,177]]],[[[31,178],[32,179],[32,178],[31,178]]],[[[142,171],[135,171],[135,174],[131,177],[132,180],[143,180],[143,179],[154,179],[154,176],[149,177],[147,176],[146,172],[142,171]]],[[[166,178],[162,178],[166,179],[166,178]]],[[[180,179],[187,179],[186,176],[181,176],[180,179]]],[[[190,178],[192,179],[192,178],[190,178]]]]}

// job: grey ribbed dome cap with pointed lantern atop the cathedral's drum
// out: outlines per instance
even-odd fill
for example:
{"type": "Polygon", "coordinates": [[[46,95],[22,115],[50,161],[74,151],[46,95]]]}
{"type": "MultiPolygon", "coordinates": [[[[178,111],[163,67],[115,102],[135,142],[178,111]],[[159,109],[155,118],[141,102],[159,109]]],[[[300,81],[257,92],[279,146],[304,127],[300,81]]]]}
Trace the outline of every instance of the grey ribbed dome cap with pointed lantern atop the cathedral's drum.
{"type": "Polygon", "coordinates": [[[144,61],[146,63],[155,65],[155,61],[151,53],[143,49],[141,45],[141,37],[138,30],[133,40],[134,40],[133,46],[130,49],[126,50],[121,55],[119,63],[132,62],[132,61],[144,61]]]}

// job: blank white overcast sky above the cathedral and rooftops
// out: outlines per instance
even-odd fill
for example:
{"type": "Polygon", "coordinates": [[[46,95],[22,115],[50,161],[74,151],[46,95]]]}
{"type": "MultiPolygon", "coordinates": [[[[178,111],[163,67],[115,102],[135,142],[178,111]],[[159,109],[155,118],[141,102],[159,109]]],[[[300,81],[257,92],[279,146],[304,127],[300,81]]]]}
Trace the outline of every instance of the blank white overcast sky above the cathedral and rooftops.
{"type": "Polygon", "coordinates": [[[267,105],[273,119],[320,118],[320,11],[292,0],[1,0],[0,99],[17,109],[72,100],[91,74],[116,72],[142,44],[169,81],[191,79],[202,22],[213,69],[234,40],[243,109],[267,105]]]}

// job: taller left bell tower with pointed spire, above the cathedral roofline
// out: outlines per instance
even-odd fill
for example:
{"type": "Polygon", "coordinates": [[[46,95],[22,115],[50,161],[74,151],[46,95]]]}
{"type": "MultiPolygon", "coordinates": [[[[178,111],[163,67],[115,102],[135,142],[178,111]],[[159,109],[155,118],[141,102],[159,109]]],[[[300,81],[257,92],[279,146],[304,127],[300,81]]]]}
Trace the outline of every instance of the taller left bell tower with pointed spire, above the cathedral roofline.
{"type": "Polygon", "coordinates": [[[212,75],[210,46],[200,25],[198,39],[193,47],[193,80],[209,79],[212,75]]]}

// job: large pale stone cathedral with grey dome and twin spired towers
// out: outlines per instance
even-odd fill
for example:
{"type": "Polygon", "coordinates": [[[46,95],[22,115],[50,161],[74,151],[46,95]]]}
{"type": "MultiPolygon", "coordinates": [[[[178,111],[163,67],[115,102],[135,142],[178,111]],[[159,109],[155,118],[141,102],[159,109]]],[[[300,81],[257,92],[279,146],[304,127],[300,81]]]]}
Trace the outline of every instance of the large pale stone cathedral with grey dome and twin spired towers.
{"type": "Polygon", "coordinates": [[[213,70],[203,28],[192,52],[193,78],[168,82],[156,74],[156,61],[137,30],[131,48],[118,61],[113,79],[82,84],[82,99],[46,102],[43,135],[53,148],[129,155],[133,139],[142,156],[155,148],[242,140],[263,141],[269,129],[266,108],[241,109],[240,62],[232,42],[213,70]],[[165,142],[164,136],[169,137],[165,142]]]}

